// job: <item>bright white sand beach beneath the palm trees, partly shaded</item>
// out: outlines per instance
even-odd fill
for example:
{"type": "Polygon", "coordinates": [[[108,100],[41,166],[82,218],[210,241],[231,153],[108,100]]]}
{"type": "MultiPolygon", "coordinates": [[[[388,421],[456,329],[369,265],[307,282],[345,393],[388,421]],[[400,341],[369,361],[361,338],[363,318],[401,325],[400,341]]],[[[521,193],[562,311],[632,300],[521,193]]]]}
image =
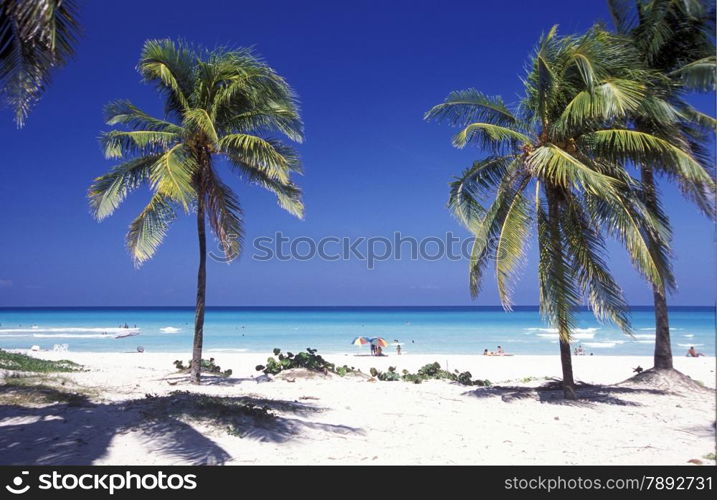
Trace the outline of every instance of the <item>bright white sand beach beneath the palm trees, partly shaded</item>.
{"type": "MultiPolygon", "coordinates": [[[[167,353],[35,353],[71,359],[90,371],[69,374],[99,389],[98,404],[45,409],[0,407],[0,459],[17,464],[686,464],[715,451],[715,358],[675,358],[676,368],[712,390],[666,393],[644,386],[603,387],[565,402],[556,392],[420,385],[362,378],[258,383],[266,355],[208,353],[226,380],[196,387],[177,375],[167,353]],[[173,385],[171,385],[173,384],[173,385]],[[284,403],[279,419],[240,438],[182,418],[151,420],[145,394],[172,391],[252,397],[284,403]],[[69,425],[68,425],[69,424],[69,425]],[[10,452],[12,451],[12,452],[10,452]]],[[[558,356],[326,356],[367,372],[415,371],[438,361],[494,384],[534,387],[560,375],[558,356]],[[536,377],[538,380],[521,380],[536,377]]],[[[574,357],[577,379],[616,384],[649,357],[574,357]]],[[[65,376],[63,374],[63,376],[65,376]]],[[[165,400],[171,405],[171,398],[165,400]]],[[[264,403],[261,403],[264,404],[264,403]]],[[[269,403],[270,406],[274,403],[269,403]]],[[[153,415],[156,416],[156,415],[153,415]]]]}

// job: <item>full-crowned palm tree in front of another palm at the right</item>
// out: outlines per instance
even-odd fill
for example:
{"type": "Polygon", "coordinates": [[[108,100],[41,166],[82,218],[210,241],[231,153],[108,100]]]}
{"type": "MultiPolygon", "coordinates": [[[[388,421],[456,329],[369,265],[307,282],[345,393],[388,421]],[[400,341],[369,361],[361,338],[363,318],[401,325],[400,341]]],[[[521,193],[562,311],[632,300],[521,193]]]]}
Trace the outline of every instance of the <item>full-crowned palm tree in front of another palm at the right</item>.
{"type": "Polygon", "coordinates": [[[566,398],[576,397],[570,339],[582,301],[598,319],[631,332],[628,306],[605,263],[604,235],[623,242],[650,282],[663,286],[671,279],[664,220],[642,202],[625,162],[650,157],[701,171],[669,141],[620,126],[648,97],[642,82],[650,76],[622,40],[600,28],[563,38],[553,28],[531,60],[525,97],[515,109],[469,89],[452,92],[426,114],[461,128],[456,147],[472,143],[489,152],[452,183],[449,198],[475,235],[474,297],[493,260],[501,303],[511,308],[512,284],[535,228],[540,310],[559,332],[566,398]]]}

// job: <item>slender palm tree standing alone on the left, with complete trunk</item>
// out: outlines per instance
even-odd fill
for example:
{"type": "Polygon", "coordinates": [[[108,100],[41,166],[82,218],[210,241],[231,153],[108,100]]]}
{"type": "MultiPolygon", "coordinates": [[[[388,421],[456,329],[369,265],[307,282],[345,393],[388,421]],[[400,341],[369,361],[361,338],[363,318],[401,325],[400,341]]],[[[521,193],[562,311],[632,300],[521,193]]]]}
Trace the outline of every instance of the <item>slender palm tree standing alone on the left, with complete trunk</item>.
{"type": "Polygon", "coordinates": [[[295,151],[268,134],[300,142],[303,125],[289,85],[246,49],[206,51],[171,40],[147,41],[138,66],[144,80],[165,98],[165,119],[129,101],[106,107],[105,156],[123,163],[89,189],[92,214],[102,220],[127,194],[145,184],[152,198],[127,233],[136,265],[150,259],[178,211],[196,212],[199,271],[191,380],[200,382],[206,290],[206,221],[227,260],[241,250],[239,199],[219,176],[227,164],[245,180],[276,195],[279,205],[302,217],[300,172],[295,151]]]}

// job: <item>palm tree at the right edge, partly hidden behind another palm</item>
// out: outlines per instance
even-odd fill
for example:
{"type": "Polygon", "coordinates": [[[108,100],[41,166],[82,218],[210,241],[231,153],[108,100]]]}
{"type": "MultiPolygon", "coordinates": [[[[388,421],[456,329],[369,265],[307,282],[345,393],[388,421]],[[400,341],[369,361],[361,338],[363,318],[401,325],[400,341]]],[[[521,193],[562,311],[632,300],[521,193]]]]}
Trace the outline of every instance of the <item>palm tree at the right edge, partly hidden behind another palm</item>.
{"type": "MultiPolygon", "coordinates": [[[[692,108],[684,100],[689,90],[715,88],[715,3],[713,0],[609,0],[617,30],[630,38],[642,64],[664,75],[654,79],[650,93],[669,103],[666,116],[651,106],[631,117],[632,128],[668,138],[693,156],[700,158],[710,181],[695,177],[672,162],[642,161],[640,180],[645,203],[659,209],[656,174],[675,181],[682,192],[701,211],[714,218],[714,183],[712,161],[707,143],[715,120],[692,108]]],[[[652,284],[655,307],[655,354],[657,370],[672,370],[672,348],[664,287],[652,284]]]]}

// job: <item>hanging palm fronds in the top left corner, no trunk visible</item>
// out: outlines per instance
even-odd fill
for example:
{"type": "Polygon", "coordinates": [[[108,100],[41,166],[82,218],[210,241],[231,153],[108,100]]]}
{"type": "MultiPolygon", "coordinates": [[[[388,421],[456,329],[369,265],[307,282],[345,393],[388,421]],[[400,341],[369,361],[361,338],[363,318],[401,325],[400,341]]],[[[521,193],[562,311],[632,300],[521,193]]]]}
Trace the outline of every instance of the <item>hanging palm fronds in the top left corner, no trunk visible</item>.
{"type": "Polygon", "coordinates": [[[22,127],[77,40],[74,0],[0,0],[0,94],[22,127]]]}

